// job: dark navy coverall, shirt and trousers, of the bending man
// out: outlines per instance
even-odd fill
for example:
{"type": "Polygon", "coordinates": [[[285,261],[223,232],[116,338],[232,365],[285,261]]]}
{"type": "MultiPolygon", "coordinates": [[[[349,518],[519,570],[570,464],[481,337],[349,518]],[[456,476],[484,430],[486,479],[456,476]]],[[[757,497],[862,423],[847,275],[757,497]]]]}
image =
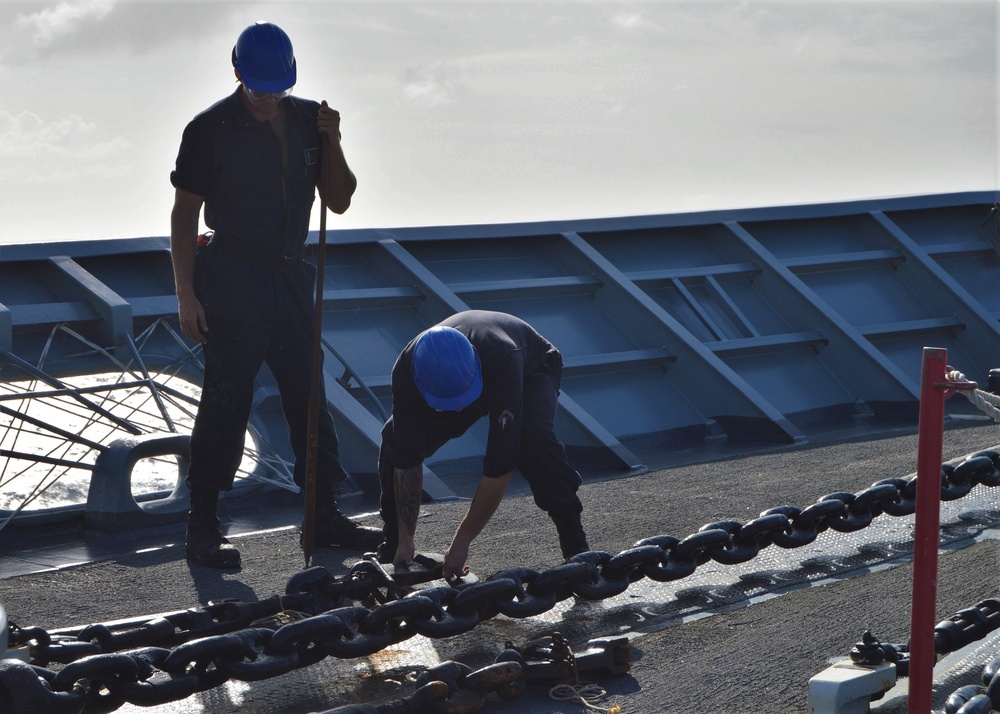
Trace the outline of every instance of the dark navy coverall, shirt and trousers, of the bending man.
{"type": "Polygon", "coordinates": [[[496,478],[516,467],[543,511],[556,520],[579,514],[580,474],[570,465],[553,427],[562,380],[559,350],[527,322],[502,312],[468,310],[440,324],[455,328],[476,348],[483,393],[460,411],[436,411],[424,401],[413,379],[416,338],[396,359],[392,416],[382,429],[379,452],[387,540],[395,540],[397,527],[393,470],[423,463],[484,416],[489,417],[489,435],[483,476],[496,478]]]}

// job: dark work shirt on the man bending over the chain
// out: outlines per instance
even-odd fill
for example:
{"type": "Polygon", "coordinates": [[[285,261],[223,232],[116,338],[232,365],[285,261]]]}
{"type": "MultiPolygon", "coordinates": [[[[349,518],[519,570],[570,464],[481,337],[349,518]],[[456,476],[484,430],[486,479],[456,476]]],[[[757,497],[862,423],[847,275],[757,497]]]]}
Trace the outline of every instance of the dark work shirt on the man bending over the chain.
{"type": "Polygon", "coordinates": [[[489,415],[489,437],[483,475],[502,476],[514,469],[521,453],[524,377],[539,370],[556,348],[531,325],[502,312],[469,310],[440,323],[469,338],[479,354],[483,393],[458,412],[428,406],[413,379],[416,339],[400,353],[392,368],[393,465],[410,468],[430,456],[431,449],[461,436],[489,415]]]}

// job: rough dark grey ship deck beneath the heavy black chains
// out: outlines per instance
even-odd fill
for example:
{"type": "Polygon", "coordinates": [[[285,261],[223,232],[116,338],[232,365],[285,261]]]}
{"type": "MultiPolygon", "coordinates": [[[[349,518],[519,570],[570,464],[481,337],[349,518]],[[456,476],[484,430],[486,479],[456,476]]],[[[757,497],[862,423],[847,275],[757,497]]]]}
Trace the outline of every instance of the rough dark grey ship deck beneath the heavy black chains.
{"type": "MultiPolygon", "coordinates": [[[[995,448],[998,442],[996,425],[988,419],[946,419],[945,460],[995,448]]],[[[805,507],[829,493],[856,492],[883,478],[904,477],[914,473],[916,454],[913,424],[816,433],[806,445],[665,453],[664,460],[672,463],[653,461],[645,473],[590,475],[581,490],[585,525],[595,549],[617,553],[647,536],[684,537],[707,523],[746,522],[771,507],[805,507]]],[[[461,493],[471,480],[456,477],[451,485],[461,493]]],[[[943,509],[939,619],[997,595],[996,502],[995,491],[977,486],[943,509]]],[[[363,514],[371,504],[359,497],[350,505],[363,514]]],[[[443,549],[465,506],[462,500],[425,504],[420,542],[443,549]]],[[[378,524],[377,515],[361,517],[378,524]]],[[[248,502],[233,509],[227,527],[243,553],[239,571],[186,561],[180,526],[117,536],[73,532],[66,525],[19,528],[0,541],[0,602],[19,625],[72,630],[222,598],[263,600],[283,593],[288,579],[303,569],[297,518],[293,506],[248,502]],[[26,565],[29,561],[34,567],[26,565]]],[[[865,630],[883,642],[908,640],[911,529],[912,517],[882,515],[857,533],[826,531],[804,548],[772,545],[744,564],[710,563],[672,583],[640,580],[614,598],[569,598],[540,616],[498,616],[464,635],[417,635],[369,657],[327,657],[274,679],[230,680],[182,701],[152,708],[126,704],[120,711],[316,712],[352,703],[374,706],[412,694],[415,674],[440,661],[483,667],[505,641],[523,644],[558,631],[578,647],[593,638],[629,638],[631,671],[591,678],[607,691],[607,705],[617,702],[623,712],[805,712],[810,677],[846,657],[865,630]]],[[[357,559],[347,551],[318,549],[312,564],[342,575],[357,559]]],[[[558,564],[554,530],[523,487],[515,485],[505,499],[476,541],[471,562],[481,576],[558,564]]],[[[982,666],[997,656],[991,641],[977,647],[938,665],[935,711],[955,688],[975,683],[982,666]]],[[[905,711],[905,682],[876,711],[905,711]]],[[[578,704],[553,701],[540,685],[530,685],[510,701],[491,695],[483,709],[497,714],[580,710],[578,704]]]]}

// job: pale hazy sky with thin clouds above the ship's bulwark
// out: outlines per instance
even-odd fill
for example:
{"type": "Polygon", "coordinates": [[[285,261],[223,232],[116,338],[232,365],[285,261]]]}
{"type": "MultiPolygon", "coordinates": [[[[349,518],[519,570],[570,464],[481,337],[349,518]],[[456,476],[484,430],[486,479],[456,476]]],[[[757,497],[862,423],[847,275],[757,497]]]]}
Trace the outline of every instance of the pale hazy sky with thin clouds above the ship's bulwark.
{"type": "Polygon", "coordinates": [[[998,15],[998,0],[0,0],[0,245],[167,235],[181,133],[233,91],[232,47],[257,20],[291,37],[295,93],[341,113],[359,187],[331,230],[993,191],[998,15]]]}

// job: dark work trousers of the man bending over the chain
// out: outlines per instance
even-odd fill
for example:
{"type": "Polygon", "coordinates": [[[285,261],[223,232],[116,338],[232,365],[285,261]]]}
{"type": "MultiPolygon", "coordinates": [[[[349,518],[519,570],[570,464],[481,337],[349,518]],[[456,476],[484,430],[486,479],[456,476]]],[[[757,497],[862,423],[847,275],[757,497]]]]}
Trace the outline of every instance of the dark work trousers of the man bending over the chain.
{"type": "MultiPolygon", "coordinates": [[[[525,376],[521,453],[516,463],[531,488],[535,505],[553,520],[575,516],[583,510],[577,496],[580,474],[570,465],[566,448],[556,438],[553,425],[561,379],[562,360],[558,355],[538,371],[525,376]]],[[[480,418],[476,414],[462,412],[437,413],[434,416],[426,435],[425,459],[451,439],[464,434],[480,418]]],[[[392,444],[393,422],[389,417],[382,428],[378,470],[382,486],[381,515],[385,521],[383,530],[390,541],[396,538],[397,532],[392,444]]]]}

